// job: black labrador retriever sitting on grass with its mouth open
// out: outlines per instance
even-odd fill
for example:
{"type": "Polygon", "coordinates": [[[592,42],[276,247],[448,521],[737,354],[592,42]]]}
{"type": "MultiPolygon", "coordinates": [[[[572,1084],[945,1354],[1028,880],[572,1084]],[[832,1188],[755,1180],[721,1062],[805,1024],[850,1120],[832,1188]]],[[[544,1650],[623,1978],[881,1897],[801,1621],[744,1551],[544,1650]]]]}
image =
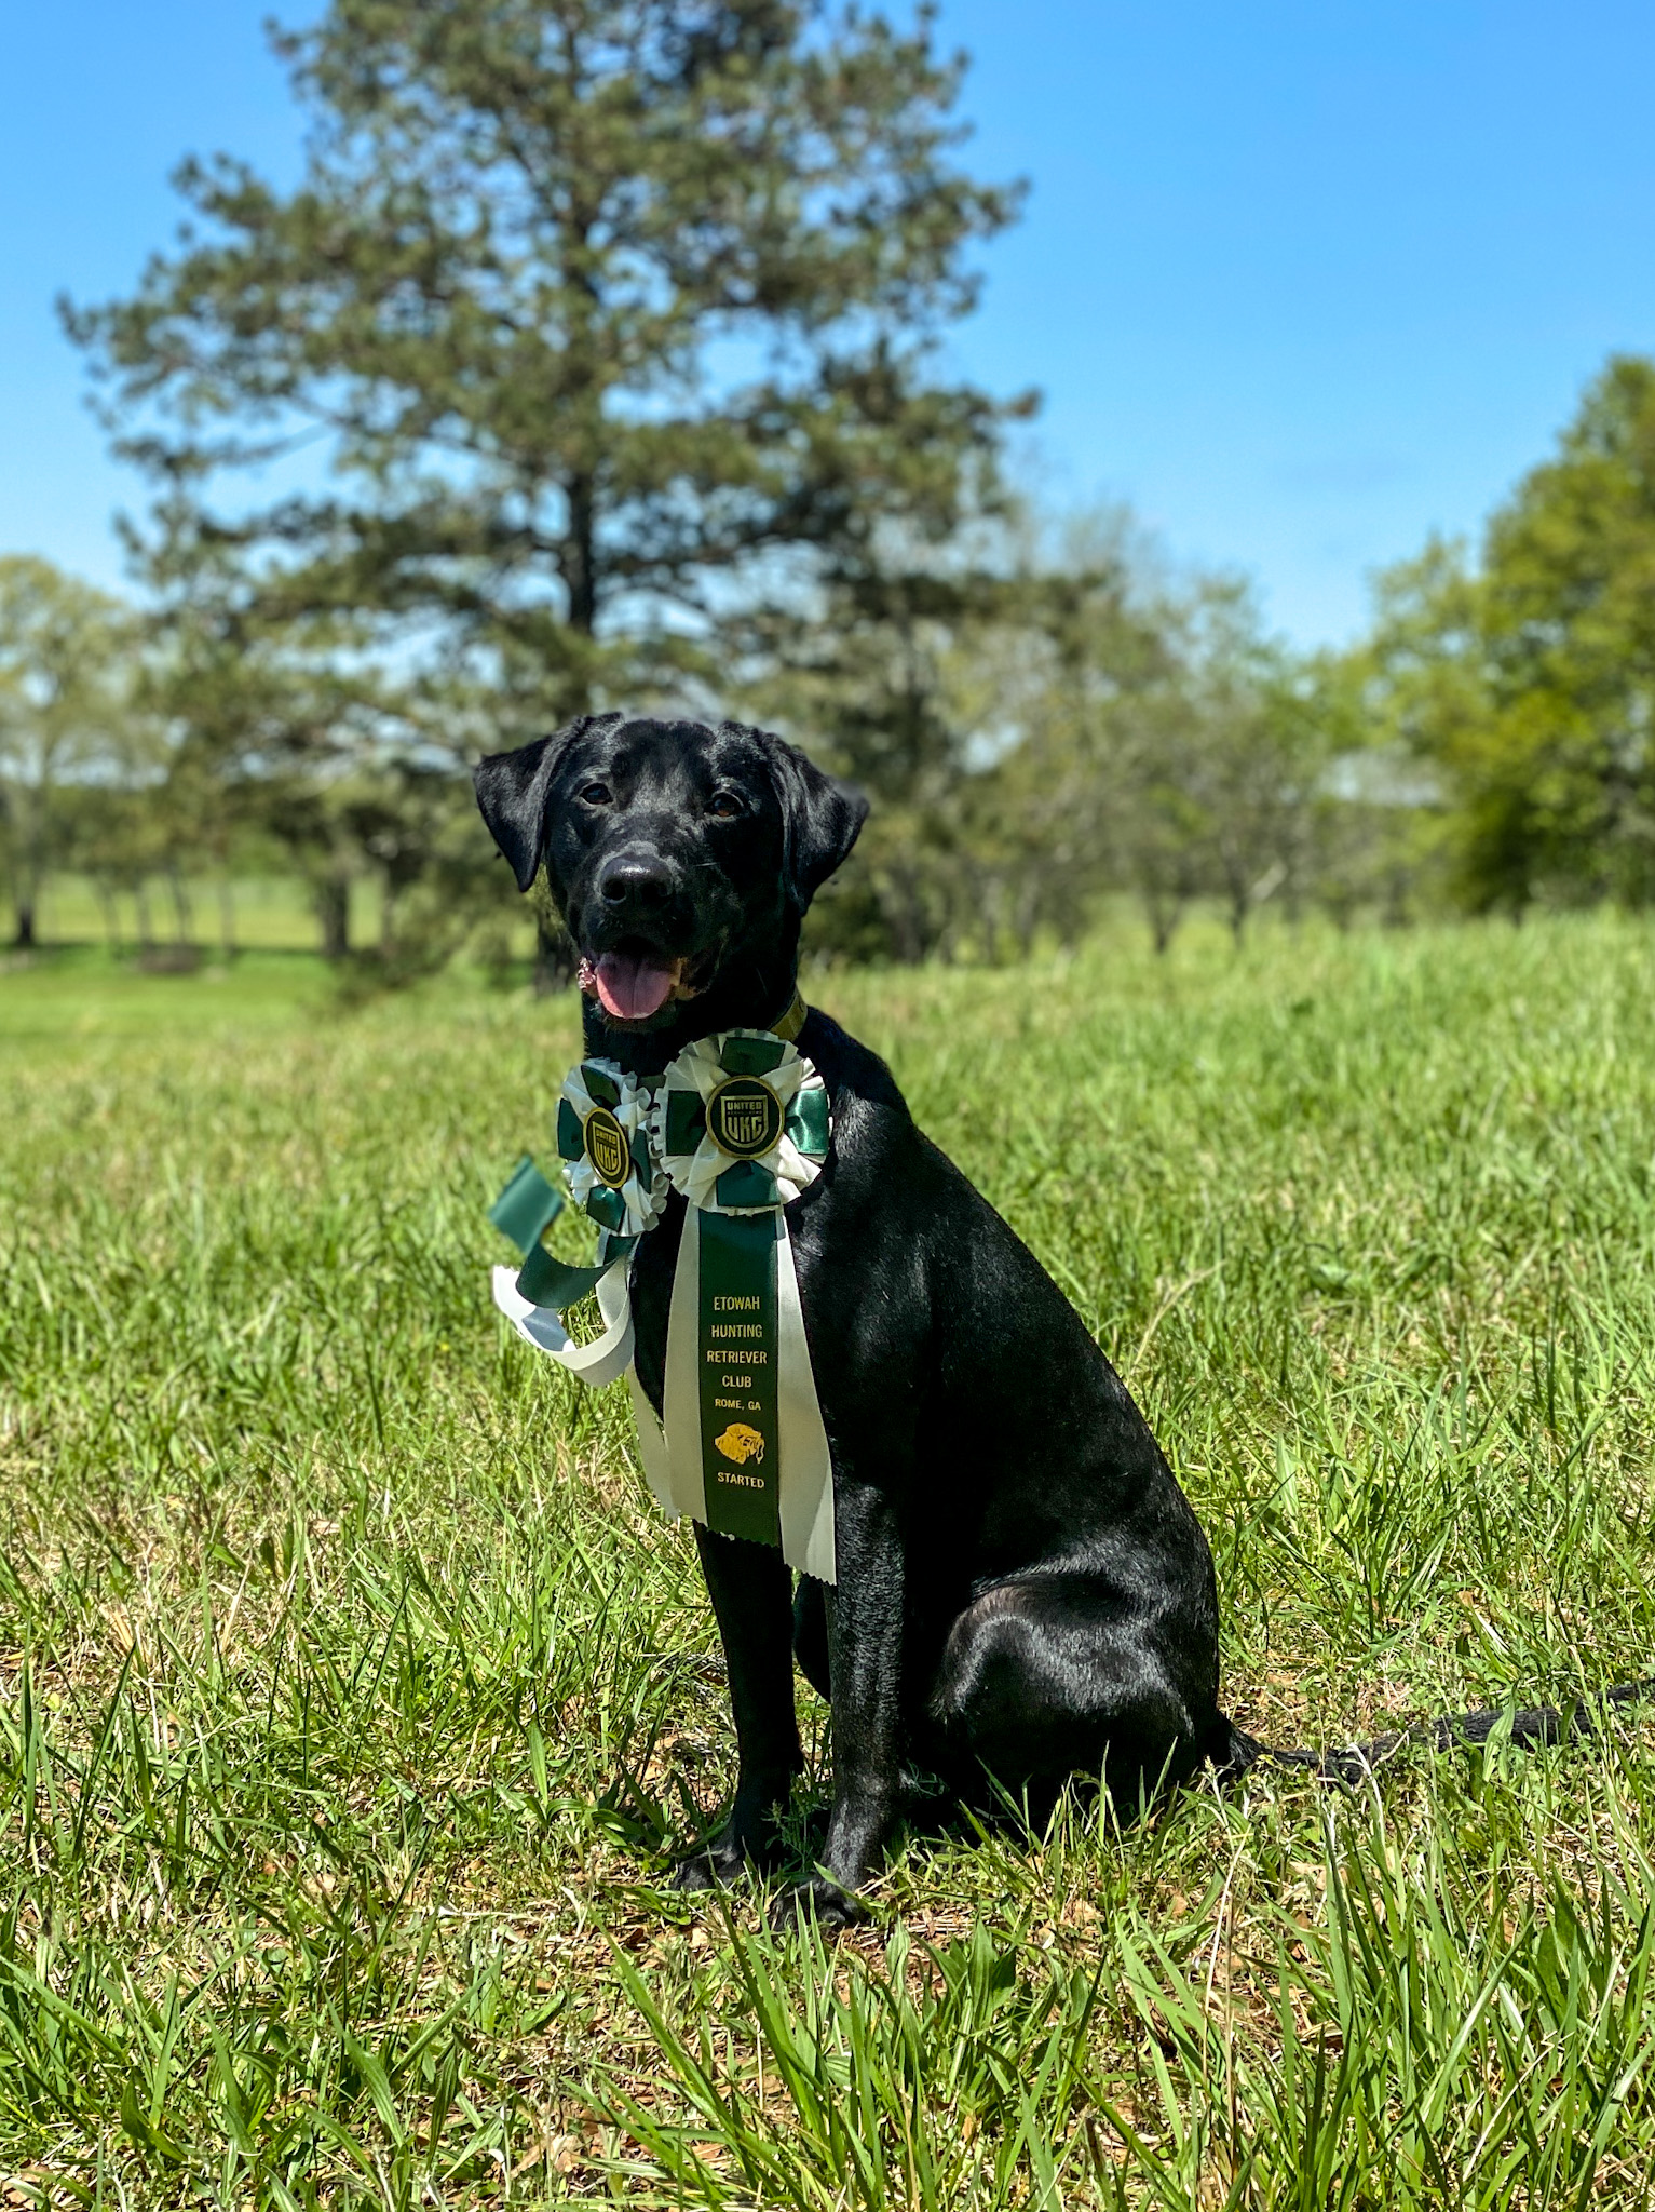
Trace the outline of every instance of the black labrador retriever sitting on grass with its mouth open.
{"type": "MultiPolygon", "coordinates": [[[[866,801],[740,723],[594,714],[477,768],[519,889],[546,863],[581,953],[586,1048],[641,1077],[694,1037],[769,1029],[800,918],[866,801]]],[[[782,1911],[860,1918],[904,1765],[1012,1792],[1103,1774],[1136,1809],[1255,1745],[1217,1708],[1200,1522],[1120,1376],[1034,1254],[913,1124],[890,1071],[824,1013],[833,1146],[789,1208],[833,1451],[837,1588],[696,1526],[740,1747],[729,1820],[687,1889],[776,1856],[800,1770],[793,1657],[833,1710],[822,1869],[782,1911]]],[[[683,1199],[632,1267],[636,1371],[661,1407],[683,1199]]]]}

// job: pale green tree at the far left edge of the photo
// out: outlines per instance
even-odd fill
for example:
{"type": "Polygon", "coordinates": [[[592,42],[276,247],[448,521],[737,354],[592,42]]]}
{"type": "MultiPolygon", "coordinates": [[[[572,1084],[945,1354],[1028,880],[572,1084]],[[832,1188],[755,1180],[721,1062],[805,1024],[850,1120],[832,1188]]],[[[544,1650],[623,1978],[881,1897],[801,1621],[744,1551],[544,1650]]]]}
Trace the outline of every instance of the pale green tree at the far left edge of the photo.
{"type": "Polygon", "coordinates": [[[0,805],[24,949],[66,836],[66,787],[130,779],[148,765],[137,754],[155,750],[133,708],[137,644],[117,599],[51,562],[0,557],[0,805]]]}

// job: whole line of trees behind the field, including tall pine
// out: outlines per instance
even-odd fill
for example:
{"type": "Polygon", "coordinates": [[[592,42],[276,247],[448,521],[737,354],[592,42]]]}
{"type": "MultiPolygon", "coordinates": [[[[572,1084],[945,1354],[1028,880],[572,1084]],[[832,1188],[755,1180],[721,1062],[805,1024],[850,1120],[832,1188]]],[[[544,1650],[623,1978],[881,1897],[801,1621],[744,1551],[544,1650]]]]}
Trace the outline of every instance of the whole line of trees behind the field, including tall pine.
{"type": "Polygon", "coordinates": [[[1036,400],[941,343],[1021,188],[963,166],[930,11],[331,0],[278,44],[301,184],[186,161],[175,246],[64,307],[152,498],[130,604],[0,560],[20,945],[46,869],[188,938],[203,876],[281,867],[336,958],[486,951],[466,768],[610,703],[875,796],[818,916],[851,958],[1005,958],[1120,894],[1162,949],[1198,902],[1240,940],[1651,896],[1655,365],[1301,655],[1242,580],[1016,498],[1036,400]]]}

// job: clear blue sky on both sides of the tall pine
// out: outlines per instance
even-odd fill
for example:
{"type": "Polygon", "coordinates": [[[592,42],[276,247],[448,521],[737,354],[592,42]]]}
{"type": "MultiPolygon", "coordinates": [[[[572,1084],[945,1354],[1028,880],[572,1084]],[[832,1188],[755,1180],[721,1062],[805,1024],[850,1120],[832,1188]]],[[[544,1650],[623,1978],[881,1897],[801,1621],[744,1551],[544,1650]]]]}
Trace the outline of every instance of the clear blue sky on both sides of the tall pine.
{"type": "MultiPolygon", "coordinates": [[[[53,294],[130,288],[186,150],[296,173],[263,0],[0,0],[0,546],[119,584],[141,487],[53,294]]],[[[1476,531],[1611,349],[1655,352],[1655,9],[944,0],[983,175],[1027,175],[955,365],[1045,411],[1054,502],[1129,500],[1304,644],[1476,531]]]]}

